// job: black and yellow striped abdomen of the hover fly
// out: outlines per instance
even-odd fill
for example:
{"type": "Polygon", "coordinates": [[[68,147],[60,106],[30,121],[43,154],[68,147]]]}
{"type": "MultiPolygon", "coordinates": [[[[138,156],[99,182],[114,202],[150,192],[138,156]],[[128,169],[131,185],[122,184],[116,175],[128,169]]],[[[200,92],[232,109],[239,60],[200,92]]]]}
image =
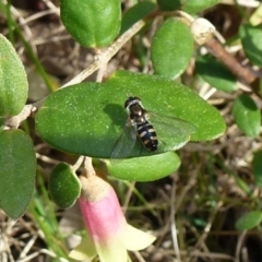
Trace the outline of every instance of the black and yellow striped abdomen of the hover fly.
{"type": "Polygon", "coordinates": [[[136,123],[138,136],[148,151],[157,150],[157,135],[153,126],[148,121],[136,123]]]}

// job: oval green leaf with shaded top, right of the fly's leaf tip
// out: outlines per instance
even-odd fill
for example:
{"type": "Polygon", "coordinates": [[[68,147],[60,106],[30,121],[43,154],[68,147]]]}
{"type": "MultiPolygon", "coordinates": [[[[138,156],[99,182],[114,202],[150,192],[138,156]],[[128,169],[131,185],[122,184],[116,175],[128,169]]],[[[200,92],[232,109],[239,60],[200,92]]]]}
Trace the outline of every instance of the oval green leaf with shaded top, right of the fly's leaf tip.
{"type": "Polygon", "coordinates": [[[233,104],[233,116],[238,128],[254,138],[260,132],[261,115],[254,102],[246,94],[238,96],[233,104]]]}

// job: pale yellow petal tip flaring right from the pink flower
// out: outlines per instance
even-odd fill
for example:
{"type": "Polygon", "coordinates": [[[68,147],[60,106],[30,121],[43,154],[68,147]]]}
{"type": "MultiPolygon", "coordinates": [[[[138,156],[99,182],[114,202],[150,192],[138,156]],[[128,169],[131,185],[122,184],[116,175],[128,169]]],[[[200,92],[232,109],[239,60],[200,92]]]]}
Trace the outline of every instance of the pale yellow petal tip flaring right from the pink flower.
{"type": "Polygon", "coordinates": [[[155,241],[155,237],[151,234],[141,231],[128,225],[127,237],[124,238],[126,247],[128,250],[141,250],[147,248],[151,243],[155,241]]]}

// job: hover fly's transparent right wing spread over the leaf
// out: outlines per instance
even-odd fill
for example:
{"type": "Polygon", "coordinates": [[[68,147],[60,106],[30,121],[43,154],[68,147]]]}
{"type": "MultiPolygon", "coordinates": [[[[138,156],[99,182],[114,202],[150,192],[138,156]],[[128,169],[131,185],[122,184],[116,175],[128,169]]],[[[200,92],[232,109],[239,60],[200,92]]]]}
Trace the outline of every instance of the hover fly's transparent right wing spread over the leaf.
{"type": "Polygon", "coordinates": [[[196,131],[192,123],[175,117],[147,111],[147,119],[155,128],[159,146],[164,151],[180,148],[189,141],[190,135],[196,131]]]}

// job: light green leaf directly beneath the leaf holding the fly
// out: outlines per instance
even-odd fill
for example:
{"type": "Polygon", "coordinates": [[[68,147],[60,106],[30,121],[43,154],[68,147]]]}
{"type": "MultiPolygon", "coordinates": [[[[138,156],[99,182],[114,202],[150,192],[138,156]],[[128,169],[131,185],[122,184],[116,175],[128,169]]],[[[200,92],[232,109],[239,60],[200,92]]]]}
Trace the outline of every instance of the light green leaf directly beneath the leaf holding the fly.
{"type": "Polygon", "coordinates": [[[108,172],[114,177],[131,181],[153,181],[176,171],[180,159],[174,152],[143,156],[108,164],[108,172]],[[146,168],[142,168],[146,167],[146,168]]]}

